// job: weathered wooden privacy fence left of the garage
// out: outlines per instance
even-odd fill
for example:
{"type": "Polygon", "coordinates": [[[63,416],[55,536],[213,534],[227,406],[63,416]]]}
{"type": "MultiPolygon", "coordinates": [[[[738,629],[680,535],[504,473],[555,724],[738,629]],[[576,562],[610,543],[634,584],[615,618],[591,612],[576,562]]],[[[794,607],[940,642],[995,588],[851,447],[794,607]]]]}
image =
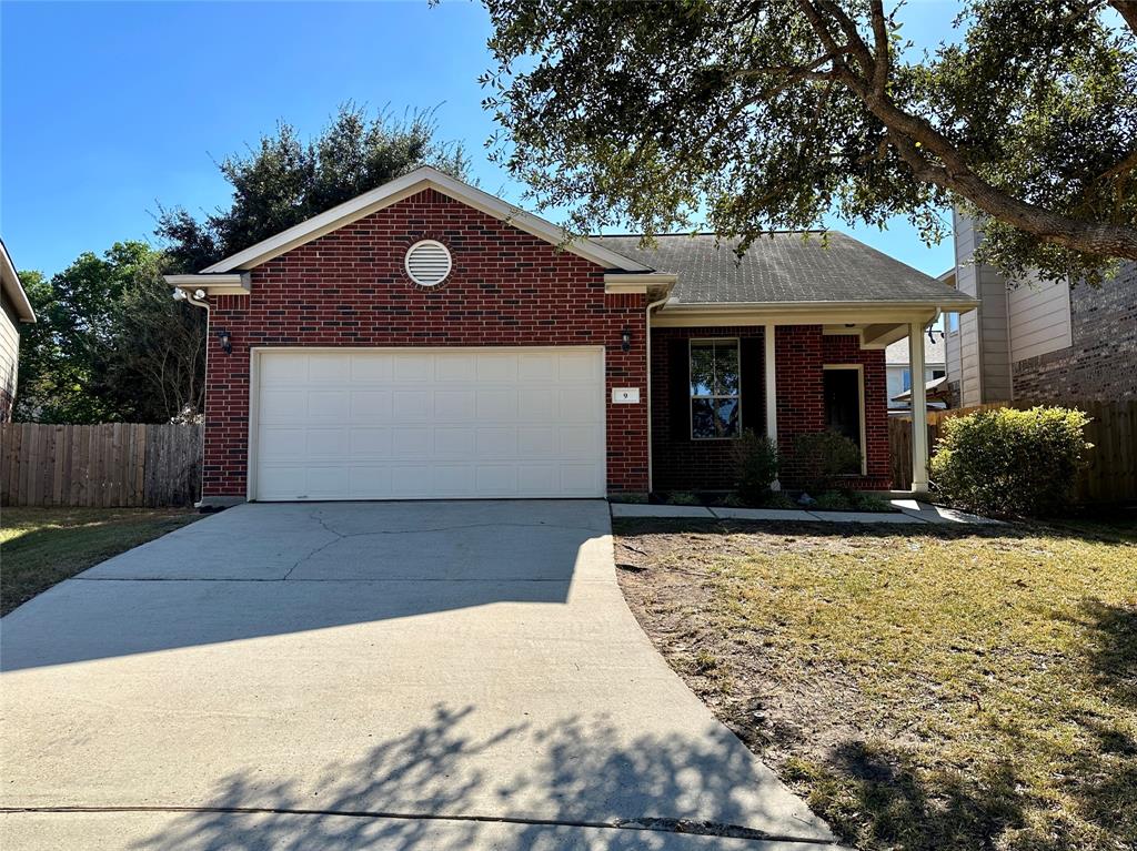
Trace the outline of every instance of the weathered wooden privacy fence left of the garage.
{"type": "Polygon", "coordinates": [[[201,485],[200,425],[0,424],[0,503],[102,508],[191,506],[201,485]]]}

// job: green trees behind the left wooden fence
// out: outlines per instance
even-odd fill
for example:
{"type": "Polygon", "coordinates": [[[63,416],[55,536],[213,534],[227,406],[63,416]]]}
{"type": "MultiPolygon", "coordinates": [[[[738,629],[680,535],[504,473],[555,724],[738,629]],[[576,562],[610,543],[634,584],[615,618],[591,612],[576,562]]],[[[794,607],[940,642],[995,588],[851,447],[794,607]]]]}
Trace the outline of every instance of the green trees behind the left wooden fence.
{"type": "Polygon", "coordinates": [[[164,262],[122,242],[50,280],[20,274],[39,322],[22,328],[16,419],[165,423],[200,410],[205,314],[169,298],[164,262]]]}

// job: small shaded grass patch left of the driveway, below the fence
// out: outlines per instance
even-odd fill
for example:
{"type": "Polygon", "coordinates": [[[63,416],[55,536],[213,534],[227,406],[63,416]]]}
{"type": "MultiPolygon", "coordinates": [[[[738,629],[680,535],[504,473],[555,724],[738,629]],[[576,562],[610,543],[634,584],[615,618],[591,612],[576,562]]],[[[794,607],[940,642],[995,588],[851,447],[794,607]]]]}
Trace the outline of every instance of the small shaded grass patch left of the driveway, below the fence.
{"type": "Polygon", "coordinates": [[[5,508],[0,511],[0,615],[57,582],[200,516],[167,508],[5,508]]]}

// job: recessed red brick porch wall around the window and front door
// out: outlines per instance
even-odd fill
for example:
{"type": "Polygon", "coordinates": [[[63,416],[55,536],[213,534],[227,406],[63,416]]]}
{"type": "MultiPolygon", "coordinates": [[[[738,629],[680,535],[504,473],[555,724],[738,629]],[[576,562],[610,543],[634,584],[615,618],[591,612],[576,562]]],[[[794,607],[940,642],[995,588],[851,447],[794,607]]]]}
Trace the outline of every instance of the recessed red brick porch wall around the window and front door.
{"type": "MultiPolygon", "coordinates": [[[[732,443],[677,439],[671,427],[669,343],[690,337],[756,337],[758,326],[715,328],[654,328],[652,331],[652,447],[654,486],[667,490],[729,490],[735,485],[732,443]]],[[[775,334],[778,381],[778,443],[783,454],[782,481],[795,484],[794,439],[824,428],[822,373],[825,364],[864,366],[868,476],[848,479],[850,487],[891,486],[888,456],[888,389],[885,352],[864,351],[856,336],[823,335],[820,325],[779,326],[775,334]]],[[[764,367],[763,367],[764,368],[764,367]]],[[[744,368],[744,397],[753,393],[744,368]]],[[[763,400],[744,398],[745,427],[765,429],[763,400]],[[760,416],[756,417],[755,412],[760,416]]],[[[682,416],[686,416],[683,411],[682,416]]]]}

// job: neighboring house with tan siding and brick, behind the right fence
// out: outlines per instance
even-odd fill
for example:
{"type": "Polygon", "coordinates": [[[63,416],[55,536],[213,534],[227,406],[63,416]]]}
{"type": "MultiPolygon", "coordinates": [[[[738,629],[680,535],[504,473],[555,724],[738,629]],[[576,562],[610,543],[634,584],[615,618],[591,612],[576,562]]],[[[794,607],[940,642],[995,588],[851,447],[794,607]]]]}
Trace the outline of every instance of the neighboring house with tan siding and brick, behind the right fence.
{"type": "Polygon", "coordinates": [[[955,215],[957,289],[978,310],[947,317],[947,373],[956,404],[1137,397],[1137,264],[1101,289],[1006,278],[971,258],[981,240],[955,215]]]}

